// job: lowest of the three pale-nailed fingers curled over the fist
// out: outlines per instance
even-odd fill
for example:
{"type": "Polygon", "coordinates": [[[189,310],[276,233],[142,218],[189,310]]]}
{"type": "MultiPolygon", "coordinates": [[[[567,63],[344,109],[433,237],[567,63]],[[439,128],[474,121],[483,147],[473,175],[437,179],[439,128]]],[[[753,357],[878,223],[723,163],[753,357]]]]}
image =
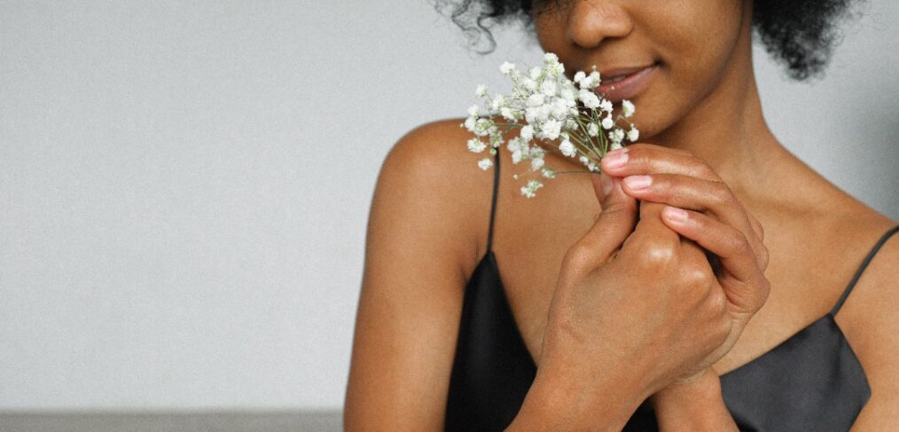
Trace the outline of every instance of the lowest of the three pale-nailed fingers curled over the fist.
{"type": "MultiPolygon", "coordinates": [[[[722,287],[731,290],[728,297],[739,299],[743,304],[737,304],[749,311],[755,307],[756,301],[762,293],[752,293],[746,290],[760,286],[764,279],[758,266],[752,247],[743,233],[725,223],[715,220],[706,214],[678,209],[666,206],[663,211],[664,222],[687,238],[696,240],[700,246],[715,254],[721,261],[724,271],[722,287]],[[683,211],[685,219],[675,217],[678,211],[683,211]],[[726,279],[733,280],[726,280],[726,279]]],[[[767,296],[767,293],[764,293],[767,296]]]]}

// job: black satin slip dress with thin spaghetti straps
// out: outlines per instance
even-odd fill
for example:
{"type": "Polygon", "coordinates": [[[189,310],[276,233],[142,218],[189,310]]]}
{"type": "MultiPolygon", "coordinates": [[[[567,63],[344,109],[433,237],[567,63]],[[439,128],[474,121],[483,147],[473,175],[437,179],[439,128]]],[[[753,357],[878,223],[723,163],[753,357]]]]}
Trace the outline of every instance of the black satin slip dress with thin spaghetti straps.
{"type": "MultiPolygon", "coordinates": [[[[468,281],[449,381],[447,431],[501,431],[518,414],[537,366],[525,347],[492,249],[500,160],[485,256],[468,281]]],[[[832,311],[764,355],[721,375],[727,409],[743,431],[847,431],[871,391],[840,327],[834,320],[877,250],[899,226],[888,230],[864,258],[832,311]]],[[[624,431],[657,431],[654,411],[644,401],[624,431]]]]}

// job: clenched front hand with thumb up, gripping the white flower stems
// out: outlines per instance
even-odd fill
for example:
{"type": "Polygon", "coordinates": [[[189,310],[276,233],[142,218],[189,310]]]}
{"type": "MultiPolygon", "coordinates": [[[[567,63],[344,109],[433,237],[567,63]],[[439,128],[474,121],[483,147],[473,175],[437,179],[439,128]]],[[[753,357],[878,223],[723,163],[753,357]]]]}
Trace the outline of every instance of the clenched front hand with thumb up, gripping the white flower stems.
{"type": "Polygon", "coordinates": [[[640,204],[637,221],[619,179],[604,197],[592,178],[602,212],[565,254],[536,381],[565,375],[573,391],[631,391],[638,404],[695,373],[733,320],[702,248],[665,225],[663,204],[640,204]]]}

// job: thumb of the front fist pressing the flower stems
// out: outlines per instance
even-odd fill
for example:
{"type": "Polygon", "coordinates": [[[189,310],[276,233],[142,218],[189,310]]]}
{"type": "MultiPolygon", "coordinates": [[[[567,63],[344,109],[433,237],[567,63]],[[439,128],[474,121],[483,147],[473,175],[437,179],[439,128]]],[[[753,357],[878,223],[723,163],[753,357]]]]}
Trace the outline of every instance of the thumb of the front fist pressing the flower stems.
{"type": "Polygon", "coordinates": [[[593,191],[602,210],[593,226],[577,244],[589,251],[578,261],[584,266],[601,266],[617,251],[636,227],[636,198],[624,193],[619,178],[605,173],[590,175],[593,191]],[[608,193],[603,193],[608,191],[608,193]]]}

